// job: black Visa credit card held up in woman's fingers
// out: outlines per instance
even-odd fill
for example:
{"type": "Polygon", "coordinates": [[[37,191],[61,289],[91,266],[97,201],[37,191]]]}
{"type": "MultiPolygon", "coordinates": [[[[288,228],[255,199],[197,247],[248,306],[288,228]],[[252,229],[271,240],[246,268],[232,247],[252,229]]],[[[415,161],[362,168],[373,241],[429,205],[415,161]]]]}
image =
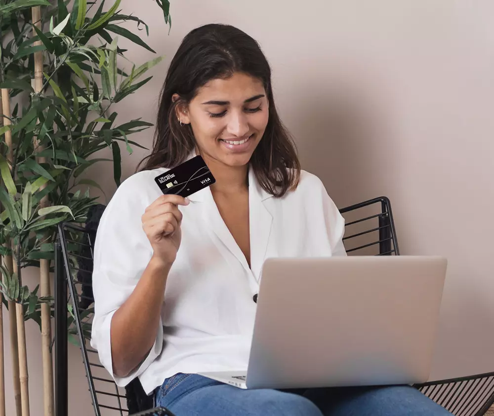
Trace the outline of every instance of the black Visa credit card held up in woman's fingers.
{"type": "Polygon", "coordinates": [[[216,182],[199,155],[157,176],[155,181],[165,195],[171,193],[184,198],[216,182]]]}

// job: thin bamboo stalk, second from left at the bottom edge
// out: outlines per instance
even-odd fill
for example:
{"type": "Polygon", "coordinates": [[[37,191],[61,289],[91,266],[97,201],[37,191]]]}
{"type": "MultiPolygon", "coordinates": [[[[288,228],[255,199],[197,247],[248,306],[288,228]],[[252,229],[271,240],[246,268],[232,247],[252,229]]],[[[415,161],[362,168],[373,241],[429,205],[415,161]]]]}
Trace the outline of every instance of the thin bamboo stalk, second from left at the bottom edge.
{"type": "MultiPolygon", "coordinates": [[[[1,89],[1,101],[3,106],[3,114],[10,116],[10,95],[7,88],[1,89]]],[[[3,125],[10,125],[10,119],[3,117],[3,125]]],[[[12,163],[14,160],[14,151],[12,148],[12,133],[6,131],[5,134],[5,144],[8,146],[7,160],[12,163]]],[[[6,246],[10,246],[10,242],[7,241],[6,246]]],[[[4,265],[8,272],[12,274],[13,271],[13,261],[12,256],[5,256],[4,265]]],[[[9,330],[10,330],[10,354],[12,356],[12,379],[14,388],[14,399],[15,399],[15,414],[16,416],[22,416],[22,406],[21,406],[21,383],[19,378],[19,349],[17,346],[17,318],[15,312],[15,302],[8,301],[8,315],[9,315],[9,330]]]]}

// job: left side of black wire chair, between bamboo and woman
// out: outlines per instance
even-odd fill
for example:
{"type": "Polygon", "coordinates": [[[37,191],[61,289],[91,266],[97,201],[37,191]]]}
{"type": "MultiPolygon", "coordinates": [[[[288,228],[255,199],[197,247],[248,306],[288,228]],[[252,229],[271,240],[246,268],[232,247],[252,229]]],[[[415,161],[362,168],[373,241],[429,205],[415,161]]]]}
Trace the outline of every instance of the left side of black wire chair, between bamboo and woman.
{"type": "Polygon", "coordinates": [[[67,341],[77,343],[96,416],[174,416],[154,408],[138,379],[118,387],[89,344],[94,315],[91,274],[96,229],[60,224],[55,243],[55,412],[68,415],[67,341]],[[67,279],[69,276],[69,279],[67,279]],[[67,292],[68,291],[68,292],[67,292]],[[67,303],[69,301],[69,303],[67,303]],[[67,313],[67,305],[69,313],[67,313]]]}

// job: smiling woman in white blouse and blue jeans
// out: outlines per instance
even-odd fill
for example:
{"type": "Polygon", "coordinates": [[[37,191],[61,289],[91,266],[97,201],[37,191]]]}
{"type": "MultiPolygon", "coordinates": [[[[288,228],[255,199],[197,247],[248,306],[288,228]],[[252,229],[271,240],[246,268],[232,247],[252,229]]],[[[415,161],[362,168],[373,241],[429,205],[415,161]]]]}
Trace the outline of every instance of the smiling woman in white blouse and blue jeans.
{"type": "Polygon", "coordinates": [[[344,256],[344,220],[300,170],[269,65],[242,31],[184,38],[152,153],[117,190],[95,246],[92,345],[123,386],[139,377],[177,416],[442,415],[411,387],[242,390],[197,375],[247,368],[267,257],[344,256]],[[201,154],[215,184],[184,199],[154,178],[201,154]]]}

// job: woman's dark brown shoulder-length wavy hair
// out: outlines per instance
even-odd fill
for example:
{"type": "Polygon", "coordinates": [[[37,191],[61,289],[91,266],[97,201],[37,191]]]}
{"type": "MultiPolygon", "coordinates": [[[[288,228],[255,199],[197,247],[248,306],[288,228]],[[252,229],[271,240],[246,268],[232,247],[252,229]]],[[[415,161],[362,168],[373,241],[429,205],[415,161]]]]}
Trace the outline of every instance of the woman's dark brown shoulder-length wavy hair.
{"type": "Polygon", "coordinates": [[[136,171],[172,168],[184,162],[196,141],[190,124],[179,124],[177,106],[187,105],[211,79],[227,78],[235,72],[261,80],[269,102],[266,130],[249,161],[259,185],[278,197],[295,189],[300,180],[300,162],[276,111],[269,63],[253,38],[229,25],[201,26],[182,40],[161,92],[153,151],[139,162],[136,171]],[[180,98],[172,100],[174,94],[180,98]]]}

